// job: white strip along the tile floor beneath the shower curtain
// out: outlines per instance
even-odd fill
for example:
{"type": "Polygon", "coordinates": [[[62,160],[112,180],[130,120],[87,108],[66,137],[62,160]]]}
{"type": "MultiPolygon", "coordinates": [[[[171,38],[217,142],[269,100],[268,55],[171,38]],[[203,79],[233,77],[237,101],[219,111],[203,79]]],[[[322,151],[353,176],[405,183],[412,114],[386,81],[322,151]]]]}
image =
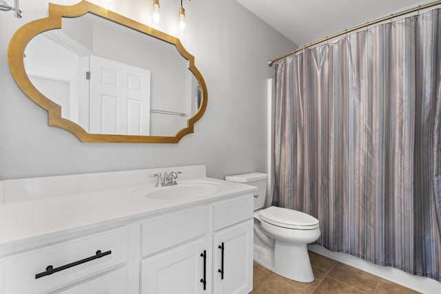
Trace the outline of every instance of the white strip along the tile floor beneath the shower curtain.
{"type": "Polygon", "coordinates": [[[429,279],[428,277],[419,277],[418,275],[411,275],[393,267],[372,264],[371,262],[367,262],[349,254],[329,251],[318,245],[308,245],[308,250],[341,262],[342,264],[347,264],[356,269],[371,273],[384,280],[389,280],[396,284],[411,288],[414,291],[424,294],[440,293],[441,282],[429,279]]]}

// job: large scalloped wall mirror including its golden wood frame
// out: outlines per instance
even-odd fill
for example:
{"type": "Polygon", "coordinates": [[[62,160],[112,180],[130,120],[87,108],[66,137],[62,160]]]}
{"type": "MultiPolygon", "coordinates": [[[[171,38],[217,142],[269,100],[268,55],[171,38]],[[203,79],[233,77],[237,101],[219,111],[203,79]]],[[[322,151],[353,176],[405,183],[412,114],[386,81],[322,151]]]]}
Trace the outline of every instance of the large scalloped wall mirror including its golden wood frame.
{"type": "Polygon", "coordinates": [[[8,48],[12,77],[82,142],[178,143],[207,107],[207,87],[179,39],[87,1],[49,3],[8,48]]]}

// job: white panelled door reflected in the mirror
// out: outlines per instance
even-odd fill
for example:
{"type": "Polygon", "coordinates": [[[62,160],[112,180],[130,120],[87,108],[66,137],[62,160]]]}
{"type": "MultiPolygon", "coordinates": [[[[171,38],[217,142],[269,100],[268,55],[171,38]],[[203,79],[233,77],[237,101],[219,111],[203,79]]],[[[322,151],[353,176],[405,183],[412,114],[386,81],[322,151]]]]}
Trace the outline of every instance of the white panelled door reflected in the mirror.
{"type": "Polygon", "coordinates": [[[90,133],[150,135],[150,71],[90,56],[90,133]]]}

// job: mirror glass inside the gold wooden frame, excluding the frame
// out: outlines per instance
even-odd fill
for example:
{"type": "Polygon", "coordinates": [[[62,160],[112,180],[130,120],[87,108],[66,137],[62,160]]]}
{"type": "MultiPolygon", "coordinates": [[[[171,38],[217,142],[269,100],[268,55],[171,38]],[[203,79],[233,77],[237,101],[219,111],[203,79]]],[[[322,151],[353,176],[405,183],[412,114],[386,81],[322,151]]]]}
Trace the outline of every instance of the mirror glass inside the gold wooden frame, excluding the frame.
{"type": "Polygon", "coordinates": [[[201,104],[174,45],[91,13],[63,17],[24,53],[31,83],[90,134],[174,136],[201,104]]]}

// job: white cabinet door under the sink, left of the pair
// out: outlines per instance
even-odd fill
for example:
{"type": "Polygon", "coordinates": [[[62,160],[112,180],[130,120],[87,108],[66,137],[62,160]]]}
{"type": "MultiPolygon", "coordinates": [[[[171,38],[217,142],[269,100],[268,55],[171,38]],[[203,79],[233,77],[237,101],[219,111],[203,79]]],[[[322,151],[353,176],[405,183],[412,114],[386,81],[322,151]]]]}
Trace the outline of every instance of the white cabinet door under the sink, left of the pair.
{"type": "Polygon", "coordinates": [[[208,252],[204,238],[146,258],[141,262],[141,293],[211,293],[208,252]],[[201,256],[204,251],[205,260],[201,256]],[[204,270],[205,291],[201,282],[204,270]]]}

